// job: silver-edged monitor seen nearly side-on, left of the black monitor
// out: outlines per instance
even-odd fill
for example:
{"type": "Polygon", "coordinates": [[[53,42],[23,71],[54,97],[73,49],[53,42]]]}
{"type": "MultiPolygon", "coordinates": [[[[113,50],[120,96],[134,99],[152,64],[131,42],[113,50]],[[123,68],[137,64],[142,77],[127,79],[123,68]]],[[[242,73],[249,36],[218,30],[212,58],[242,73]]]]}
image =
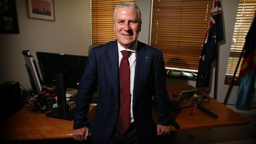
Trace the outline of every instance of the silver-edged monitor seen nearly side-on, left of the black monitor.
{"type": "Polygon", "coordinates": [[[41,78],[37,69],[37,65],[35,63],[34,57],[30,54],[29,50],[23,50],[22,54],[24,55],[25,59],[25,66],[28,72],[28,77],[30,80],[30,84],[33,90],[33,94],[37,95],[41,92],[41,78]]]}

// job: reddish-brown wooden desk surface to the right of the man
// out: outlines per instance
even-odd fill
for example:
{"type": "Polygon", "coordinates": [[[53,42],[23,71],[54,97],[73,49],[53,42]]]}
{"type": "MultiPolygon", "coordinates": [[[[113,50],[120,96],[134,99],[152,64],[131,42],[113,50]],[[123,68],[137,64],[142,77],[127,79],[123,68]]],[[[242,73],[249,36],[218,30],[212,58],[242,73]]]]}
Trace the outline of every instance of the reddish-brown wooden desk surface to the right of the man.
{"type": "MultiPolygon", "coordinates": [[[[191,85],[167,85],[167,92],[174,92],[180,89],[193,89],[195,87],[191,85]]],[[[218,115],[218,118],[213,118],[203,111],[197,109],[197,107],[187,107],[184,109],[172,111],[171,115],[180,125],[180,130],[187,129],[200,129],[208,127],[223,127],[223,126],[235,126],[249,124],[249,120],[242,117],[240,114],[229,109],[220,102],[217,102],[210,96],[210,101],[202,101],[202,105],[218,115]],[[193,114],[191,116],[191,111],[193,114]]],[[[154,122],[157,122],[157,111],[153,108],[154,122]]],[[[172,130],[176,129],[172,126],[172,130]]]]}

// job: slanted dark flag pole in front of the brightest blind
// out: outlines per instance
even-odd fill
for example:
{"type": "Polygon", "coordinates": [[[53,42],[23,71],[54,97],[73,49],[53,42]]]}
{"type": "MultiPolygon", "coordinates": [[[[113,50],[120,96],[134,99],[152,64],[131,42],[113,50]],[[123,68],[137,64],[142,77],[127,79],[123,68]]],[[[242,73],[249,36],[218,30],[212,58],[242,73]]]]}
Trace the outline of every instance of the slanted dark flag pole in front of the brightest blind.
{"type": "Polygon", "coordinates": [[[229,96],[230,96],[230,91],[231,91],[231,89],[232,89],[233,86],[234,86],[234,83],[235,83],[235,80],[234,80],[234,79],[235,79],[235,77],[236,77],[236,72],[237,72],[237,69],[238,69],[238,67],[239,67],[240,61],[241,61],[241,59],[242,59],[242,57],[243,57],[243,52],[245,51],[246,45],[247,45],[247,42],[245,41],[245,44],[243,45],[243,50],[242,50],[242,52],[241,52],[241,54],[240,54],[239,60],[238,60],[237,65],[236,65],[236,70],[235,70],[235,72],[234,72],[234,75],[233,75],[233,77],[232,77],[231,83],[230,83],[230,85],[229,85],[229,87],[228,87],[228,92],[227,92],[226,97],[225,97],[225,100],[224,100],[224,102],[223,102],[224,105],[227,105],[227,103],[228,103],[228,99],[229,99],[229,96]]]}

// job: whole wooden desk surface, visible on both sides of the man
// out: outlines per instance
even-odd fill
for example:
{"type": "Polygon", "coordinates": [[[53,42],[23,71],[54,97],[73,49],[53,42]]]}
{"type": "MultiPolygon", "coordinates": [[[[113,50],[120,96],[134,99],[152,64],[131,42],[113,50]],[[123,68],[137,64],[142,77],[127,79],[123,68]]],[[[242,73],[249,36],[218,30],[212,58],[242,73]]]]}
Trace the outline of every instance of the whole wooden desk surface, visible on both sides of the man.
{"type": "MultiPolygon", "coordinates": [[[[191,89],[191,85],[169,85],[167,91],[180,89],[191,89]]],[[[204,127],[221,127],[249,124],[249,120],[243,118],[216,100],[203,102],[203,106],[213,111],[219,117],[212,118],[208,114],[200,111],[196,107],[188,107],[181,111],[172,112],[176,122],[180,124],[180,129],[198,129],[204,127]],[[191,110],[193,109],[193,116],[191,110]]],[[[90,107],[88,119],[93,117],[96,107],[90,107]]],[[[154,120],[157,121],[156,109],[153,108],[154,120]]],[[[0,140],[40,140],[54,138],[72,138],[73,121],[60,120],[46,117],[45,114],[30,113],[23,107],[7,122],[0,126],[0,140]]],[[[174,127],[172,127],[175,130],[174,127]]]]}

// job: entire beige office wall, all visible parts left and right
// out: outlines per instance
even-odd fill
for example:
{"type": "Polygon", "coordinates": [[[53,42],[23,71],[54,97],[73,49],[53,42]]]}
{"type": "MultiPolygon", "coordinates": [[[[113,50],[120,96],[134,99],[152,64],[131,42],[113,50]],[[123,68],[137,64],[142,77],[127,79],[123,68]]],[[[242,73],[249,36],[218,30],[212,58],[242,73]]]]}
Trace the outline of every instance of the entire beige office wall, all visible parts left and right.
{"type": "MultiPolygon", "coordinates": [[[[219,50],[219,76],[217,100],[223,102],[229,85],[224,77],[231,47],[234,22],[239,0],[222,0],[225,41],[219,50]]],[[[30,83],[24,66],[22,50],[87,55],[91,45],[90,0],[54,0],[56,21],[35,20],[27,17],[26,0],[16,0],[20,34],[0,34],[0,83],[19,81],[26,89],[30,83]]],[[[137,0],[142,13],[139,41],[149,44],[151,0],[137,0]]],[[[213,69],[213,80],[214,80],[213,69]]],[[[195,81],[168,78],[170,85],[193,85],[195,81]]],[[[213,96],[214,81],[210,96],[213,96]]],[[[234,86],[228,103],[235,104],[238,87],[234,86]]],[[[234,106],[228,107],[235,109],[234,106]]],[[[256,114],[256,111],[238,111],[256,114]]]]}

